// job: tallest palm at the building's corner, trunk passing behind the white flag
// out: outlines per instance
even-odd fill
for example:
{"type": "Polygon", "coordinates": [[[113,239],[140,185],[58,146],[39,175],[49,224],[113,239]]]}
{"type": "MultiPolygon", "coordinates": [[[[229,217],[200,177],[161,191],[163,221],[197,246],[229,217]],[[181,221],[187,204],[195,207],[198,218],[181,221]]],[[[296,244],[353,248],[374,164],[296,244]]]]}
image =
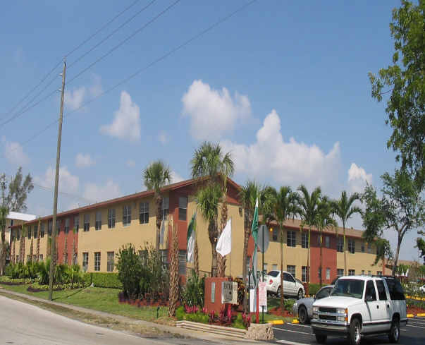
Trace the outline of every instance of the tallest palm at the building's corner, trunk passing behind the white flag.
{"type": "MultiPolygon", "coordinates": [[[[209,178],[204,188],[211,188],[211,186],[219,186],[219,188],[221,189],[220,200],[218,200],[218,202],[221,202],[221,222],[220,231],[217,232],[218,236],[218,234],[221,233],[227,223],[227,179],[233,176],[233,173],[235,171],[235,164],[233,163],[230,152],[223,154],[221,146],[219,144],[209,142],[202,143],[201,146],[197,150],[195,150],[190,164],[192,178],[209,178]]],[[[212,190],[209,190],[209,194],[211,193],[214,192],[212,190]]],[[[218,214],[218,203],[216,213],[218,214]]],[[[218,223],[216,225],[218,227],[218,223]]],[[[215,255],[218,254],[215,253],[215,255]]],[[[224,277],[225,270],[226,260],[225,258],[221,257],[221,255],[218,255],[218,276],[224,277]]]]}

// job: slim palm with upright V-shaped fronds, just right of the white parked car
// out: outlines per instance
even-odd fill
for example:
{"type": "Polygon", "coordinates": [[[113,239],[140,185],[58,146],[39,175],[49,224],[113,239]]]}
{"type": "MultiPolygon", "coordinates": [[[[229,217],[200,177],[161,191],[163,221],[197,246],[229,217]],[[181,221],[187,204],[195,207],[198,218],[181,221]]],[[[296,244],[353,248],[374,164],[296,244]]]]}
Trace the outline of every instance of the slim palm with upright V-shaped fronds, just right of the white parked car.
{"type": "Polygon", "coordinates": [[[307,250],[307,270],[309,270],[308,281],[310,282],[311,270],[310,270],[310,235],[312,232],[312,225],[314,225],[317,207],[319,204],[320,196],[321,196],[321,188],[316,187],[312,194],[309,194],[307,187],[301,185],[298,187],[298,191],[300,194],[298,195],[298,204],[300,205],[300,217],[302,219],[301,226],[304,225],[309,226],[309,239],[308,239],[308,250],[307,250]]]}

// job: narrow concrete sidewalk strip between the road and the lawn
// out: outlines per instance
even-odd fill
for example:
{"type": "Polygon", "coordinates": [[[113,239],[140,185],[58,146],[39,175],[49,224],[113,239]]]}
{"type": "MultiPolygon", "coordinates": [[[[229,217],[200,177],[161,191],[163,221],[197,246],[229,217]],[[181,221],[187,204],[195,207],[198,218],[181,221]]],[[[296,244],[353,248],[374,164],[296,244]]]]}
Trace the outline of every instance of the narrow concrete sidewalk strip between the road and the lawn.
{"type": "MultiPolygon", "coordinates": [[[[27,301],[38,301],[41,303],[45,303],[48,305],[56,305],[61,308],[66,308],[68,310],[75,310],[76,312],[85,313],[88,315],[92,315],[94,317],[104,317],[116,320],[118,322],[125,322],[131,325],[139,325],[142,327],[152,327],[152,329],[159,329],[161,332],[168,332],[170,334],[175,334],[176,337],[185,337],[185,338],[196,338],[196,339],[202,339],[205,341],[211,341],[216,344],[229,344],[229,345],[237,345],[240,344],[240,342],[243,342],[243,344],[250,345],[250,344],[269,344],[264,341],[252,341],[252,340],[244,340],[244,339],[235,339],[232,337],[226,337],[223,335],[218,334],[208,334],[206,332],[198,332],[190,329],[182,329],[178,327],[168,326],[168,325],[160,325],[154,322],[144,321],[144,320],[135,320],[131,317],[125,317],[121,315],[111,314],[111,313],[105,313],[98,310],[92,310],[88,308],[82,308],[78,307],[76,305],[70,305],[66,303],[60,303],[55,301],[48,301],[44,298],[38,298],[35,296],[29,296],[25,293],[18,293],[14,291],[8,291],[6,289],[1,288],[0,286],[0,292],[11,295],[11,296],[18,296],[20,298],[23,298],[27,301]]],[[[143,334],[137,334],[139,336],[143,337],[143,334]]]]}

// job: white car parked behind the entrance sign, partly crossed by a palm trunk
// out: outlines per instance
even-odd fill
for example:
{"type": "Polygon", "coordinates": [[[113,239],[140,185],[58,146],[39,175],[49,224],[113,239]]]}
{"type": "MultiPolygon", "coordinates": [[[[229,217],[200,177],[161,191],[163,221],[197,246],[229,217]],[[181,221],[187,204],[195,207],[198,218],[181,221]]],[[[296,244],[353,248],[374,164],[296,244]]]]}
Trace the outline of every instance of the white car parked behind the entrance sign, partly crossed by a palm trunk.
{"type": "MultiPolygon", "coordinates": [[[[283,274],[283,294],[285,296],[292,296],[300,299],[304,296],[304,286],[295,280],[289,272],[282,272],[283,274]]],[[[276,296],[281,296],[281,271],[273,270],[267,273],[264,277],[266,282],[266,289],[269,293],[274,293],[276,296]]]]}

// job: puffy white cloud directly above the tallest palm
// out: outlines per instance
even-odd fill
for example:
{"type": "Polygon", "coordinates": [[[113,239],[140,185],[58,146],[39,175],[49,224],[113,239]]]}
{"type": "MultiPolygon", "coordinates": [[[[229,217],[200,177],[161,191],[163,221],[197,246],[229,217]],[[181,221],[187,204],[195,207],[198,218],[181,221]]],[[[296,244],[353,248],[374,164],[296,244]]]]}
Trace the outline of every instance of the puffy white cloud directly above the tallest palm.
{"type": "Polygon", "coordinates": [[[190,132],[197,140],[218,140],[235,127],[237,121],[251,115],[250,99],[235,92],[232,98],[226,87],[214,90],[202,80],[195,80],[182,97],[183,116],[190,118],[190,132]]]}

